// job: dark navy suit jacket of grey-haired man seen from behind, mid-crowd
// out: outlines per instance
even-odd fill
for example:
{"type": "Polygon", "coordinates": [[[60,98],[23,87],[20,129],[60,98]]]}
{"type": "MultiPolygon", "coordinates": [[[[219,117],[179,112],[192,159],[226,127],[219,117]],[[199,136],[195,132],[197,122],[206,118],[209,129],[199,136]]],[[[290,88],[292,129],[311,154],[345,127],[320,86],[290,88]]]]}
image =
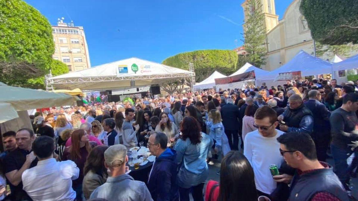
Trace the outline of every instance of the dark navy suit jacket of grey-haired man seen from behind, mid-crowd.
{"type": "Polygon", "coordinates": [[[225,130],[238,131],[240,129],[238,118],[240,108],[234,104],[226,104],[221,108],[221,118],[225,130]]]}

